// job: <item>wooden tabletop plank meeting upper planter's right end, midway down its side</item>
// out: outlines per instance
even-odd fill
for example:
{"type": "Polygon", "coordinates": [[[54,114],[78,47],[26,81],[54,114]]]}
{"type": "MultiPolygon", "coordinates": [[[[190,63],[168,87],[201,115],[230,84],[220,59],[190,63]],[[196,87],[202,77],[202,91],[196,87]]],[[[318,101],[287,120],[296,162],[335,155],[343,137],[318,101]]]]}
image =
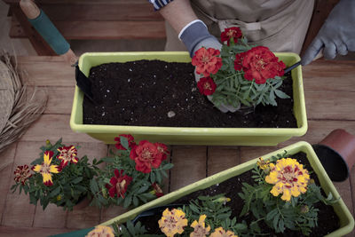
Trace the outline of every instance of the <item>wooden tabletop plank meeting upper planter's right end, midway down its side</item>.
{"type": "Polygon", "coordinates": [[[308,119],[355,121],[355,91],[305,90],[304,98],[308,119]]]}

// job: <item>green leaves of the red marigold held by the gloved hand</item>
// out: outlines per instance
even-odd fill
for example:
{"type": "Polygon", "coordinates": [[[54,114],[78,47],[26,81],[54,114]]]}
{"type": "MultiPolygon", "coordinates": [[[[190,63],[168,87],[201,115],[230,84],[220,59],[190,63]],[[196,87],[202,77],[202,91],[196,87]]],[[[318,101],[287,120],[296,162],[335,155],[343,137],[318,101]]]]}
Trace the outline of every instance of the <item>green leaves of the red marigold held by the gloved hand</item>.
{"type": "Polygon", "coordinates": [[[217,84],[213,93],[212,102],[219,107],[221,104],[240,107],[277,106],[276,97],[288,99],[289,96],[280,91],[283,77],[275,76],[266,80],[264,84],[257,84],[255,80],[248,81],[244,78],[244,72],[234,69],[234,59],[237,53],[248,51],[256,45],[248,44],[245,37],[238,44],[224,44],[221,50],[222,67],[217,74],[211,75],[217,84]]]}

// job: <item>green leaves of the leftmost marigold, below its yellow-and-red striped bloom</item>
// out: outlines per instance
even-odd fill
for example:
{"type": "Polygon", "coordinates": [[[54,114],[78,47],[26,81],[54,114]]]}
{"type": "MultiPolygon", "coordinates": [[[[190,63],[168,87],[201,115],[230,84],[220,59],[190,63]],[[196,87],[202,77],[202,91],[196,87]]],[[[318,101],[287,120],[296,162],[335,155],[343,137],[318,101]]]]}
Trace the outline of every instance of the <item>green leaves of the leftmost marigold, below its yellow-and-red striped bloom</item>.
{"type": "MultiPolygon", "coordinates": [[[[62,146],[65,145],[62,144],[61,138],[54,145],[47,141],[46,146],[40,148],[42,152],[39,154],[39,158],[31,165],[42,164],[45,151],[52,151],[54,154],[51,164],[59,165],[60,161],[57,158],[59,151],[57,149],[62,146]]],[[[63,207],[63,209],[72,210],[79,201],[91,198],[91,178],[94,178],[98,173],[97,164],[96,160],[91,164],[86,155],[79,159],[77,163],[68,162],[67,166],[59,173],[52,174],[52,186],[44,186],[42,175],[38,172],[32,172],[32,177],[28,178],[25,185],[15,184],[12,186],[12,192],[15,192],[18,188],[20,189],[19,193],[24,190],[25,194],[29,195],[30,203],[36,205],[39,201],[43,209],[49,203],[54,203],[63,207]]]]}

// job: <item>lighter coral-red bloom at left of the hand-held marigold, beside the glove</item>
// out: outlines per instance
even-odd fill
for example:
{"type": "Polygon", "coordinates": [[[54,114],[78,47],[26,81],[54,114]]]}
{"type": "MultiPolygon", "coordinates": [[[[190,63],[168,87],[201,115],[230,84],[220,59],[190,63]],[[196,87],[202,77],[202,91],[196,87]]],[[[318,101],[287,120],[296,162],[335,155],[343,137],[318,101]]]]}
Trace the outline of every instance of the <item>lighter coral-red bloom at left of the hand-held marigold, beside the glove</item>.
{"type": "Polygon", "coordinates": [[[209,74],[217,74],[219,68],[222,67],[222,59],[218,57],[220,51],[213,48],[201,48],[194,53],[192,64],[196,66],[196,73],[204,76],[209,74]]]}

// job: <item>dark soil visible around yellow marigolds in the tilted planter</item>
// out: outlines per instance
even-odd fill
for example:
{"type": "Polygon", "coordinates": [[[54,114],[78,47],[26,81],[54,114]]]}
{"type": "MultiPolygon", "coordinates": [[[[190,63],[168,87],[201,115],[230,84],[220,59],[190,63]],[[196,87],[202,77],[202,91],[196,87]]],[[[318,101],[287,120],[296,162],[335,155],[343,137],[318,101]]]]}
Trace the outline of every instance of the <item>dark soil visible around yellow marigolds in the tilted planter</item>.
{"type": "MultiPolygon", "coordinates": [[[[292,158],[296,159],[298,162],[304,164],[304,168],[310,171],[311,178],[314,179],[315,183],[320,186],[319,179],[317,178],[316,174],[313,172],[310,162],[308,162],[306,154],[298,153],[291,156],[292,158]]],[[[225,194],[225,197],[231,198],[231,201],[226,203],[232,209],[231,217],[237,217],[237,222],[241,223],[242,220],[245,220],[248,224],[250,224],[252,219],[251,215],[248,217],[239,217],[241,213],[241,209],[243,208],[244,201],[238,195],[241,193],[241,184],[248,183],[249,185],[254,184],[254,179],[251,178],[252,172],[249,170],[247,172],[242,173],[239,176],[229,178],[224,182],[217,184],[215,186],[210,186],[209,188],[199,190],[193,192],[192,194],[185,195],[184,197],[178,199],[177,201],[171,203],[181,203],[181,204],[189,204],[189,201],[196,200],[199,196],[214,196],[217,194],[225,194]]],[[[323,195],[324,192],[322,192],[323,195]]],[[[334,209],[330,205],[324,204],[322,201],[316,203],[314,205],[315,208],[319,209],[318,213],[318,226],[312,228],[311,237],[319,237],[325,236],[327,233],[332,233],[336,229],[339,228],[339,218],[336,216],[334,209]]],[[[141,217],[139,221],[142,225],[146,226],[146,230],[149,233],[154,234],[162,234],[158,220],[162,217],[162,214],[155,215],[153,217],[141,217]]],[[[259,222],[260,228],[263,230],[263,233],[270,233],[269,236],[288,236],[288,237],[304,237],[305,235],[300,232],[286,230],[284,233],[274,233],[273,230],[265,225],[264,223],[259,222]]]]}

